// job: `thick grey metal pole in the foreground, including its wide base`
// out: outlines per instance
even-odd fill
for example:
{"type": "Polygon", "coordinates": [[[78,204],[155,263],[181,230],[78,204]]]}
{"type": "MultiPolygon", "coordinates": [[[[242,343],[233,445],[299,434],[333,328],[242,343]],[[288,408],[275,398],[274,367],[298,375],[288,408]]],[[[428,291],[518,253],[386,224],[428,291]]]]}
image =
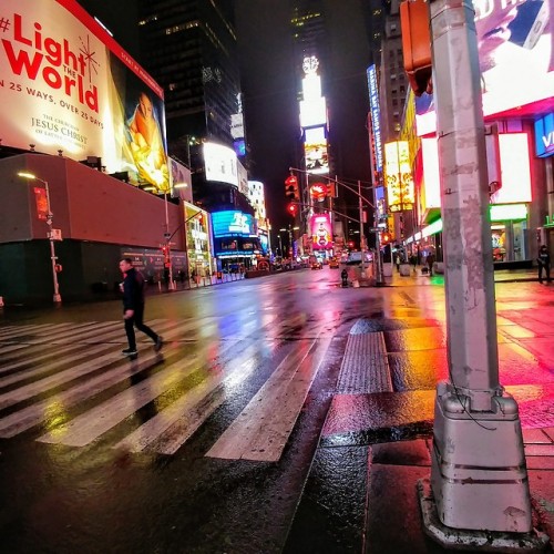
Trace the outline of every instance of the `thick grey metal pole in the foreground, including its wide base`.
{"type": "Polygon", "coordinates": [[[437,532],[429,520],[425,527],[440,542],[441,535],[460,544],[463,532],[455,530],[529,533],[531,501],[517,403],[499,382],[473,6],[435,0],[430,8],[450,375],[437,388],[431,488],[437,514],[451,529],[437,532]]]}

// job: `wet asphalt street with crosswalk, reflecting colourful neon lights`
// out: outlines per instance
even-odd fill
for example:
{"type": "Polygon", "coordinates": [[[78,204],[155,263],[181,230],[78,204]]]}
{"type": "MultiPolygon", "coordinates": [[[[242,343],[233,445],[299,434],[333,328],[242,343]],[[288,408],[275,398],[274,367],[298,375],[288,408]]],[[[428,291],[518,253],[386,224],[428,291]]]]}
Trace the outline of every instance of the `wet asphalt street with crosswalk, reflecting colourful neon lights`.
{"type": "MultiPolygon", "coordinates": [[[[136,360],[121,356],[119,301],[4,308],[0,551],[294,552],[318,441],[348,431],[328,412],[352,328],[383,334],[392,392],[432,394],[448,376],[442,277],[339,280],[325,267],[153,294],[165,346],[138,335],[136,360]]],[[[552,413],[554,286],[499,284],[496,298],[501,382],[532,427],[552,413]]],[[[379,398],[376,417],[393,402],[379,398]]]]}

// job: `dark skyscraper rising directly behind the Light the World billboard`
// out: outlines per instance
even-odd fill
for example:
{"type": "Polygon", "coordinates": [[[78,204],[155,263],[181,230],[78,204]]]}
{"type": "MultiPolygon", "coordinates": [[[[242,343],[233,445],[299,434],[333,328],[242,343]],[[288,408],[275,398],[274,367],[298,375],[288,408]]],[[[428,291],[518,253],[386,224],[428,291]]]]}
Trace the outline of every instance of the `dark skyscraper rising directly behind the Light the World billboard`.
{"type": "Polygon", "coordinates": [[[196,138],[233,145],[240,81],[232,0],[138,0],[141,61],[165,91],[170,151],[196,138]]]}

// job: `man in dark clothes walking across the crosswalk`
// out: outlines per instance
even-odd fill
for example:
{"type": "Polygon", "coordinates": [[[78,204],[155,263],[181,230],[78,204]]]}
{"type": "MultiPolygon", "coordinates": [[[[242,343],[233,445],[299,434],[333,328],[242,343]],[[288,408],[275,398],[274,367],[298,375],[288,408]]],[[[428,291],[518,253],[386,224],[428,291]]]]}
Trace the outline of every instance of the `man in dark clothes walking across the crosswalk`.
{"type": "Polygon", "coordinates": [[[146,334],[154,341],[154,350],[158,352],[164,345],[162,337],[143,322],[144,277],[141,271],[137,271],[133,267],[131,258],[123,258],[120,261],[120,269],[124,277],[121,288],[123,291],[123,319],[129,341],[129,348],[125,348],[123,353],[125,356],[136,356],[138,353],[136,350],[134,327],[146,334]]]}

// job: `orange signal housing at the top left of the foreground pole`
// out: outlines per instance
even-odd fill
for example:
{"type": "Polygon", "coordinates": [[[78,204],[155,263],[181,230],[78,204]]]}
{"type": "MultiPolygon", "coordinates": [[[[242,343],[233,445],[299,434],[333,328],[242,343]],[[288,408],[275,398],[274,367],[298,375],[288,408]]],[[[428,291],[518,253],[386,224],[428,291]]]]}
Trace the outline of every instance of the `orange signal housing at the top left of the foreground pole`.
{"type": "Polygon", "coordinates": [[[430,25],[428,0],[400,3],[404,70],[416,96],[433,91],[430,25]]]}

